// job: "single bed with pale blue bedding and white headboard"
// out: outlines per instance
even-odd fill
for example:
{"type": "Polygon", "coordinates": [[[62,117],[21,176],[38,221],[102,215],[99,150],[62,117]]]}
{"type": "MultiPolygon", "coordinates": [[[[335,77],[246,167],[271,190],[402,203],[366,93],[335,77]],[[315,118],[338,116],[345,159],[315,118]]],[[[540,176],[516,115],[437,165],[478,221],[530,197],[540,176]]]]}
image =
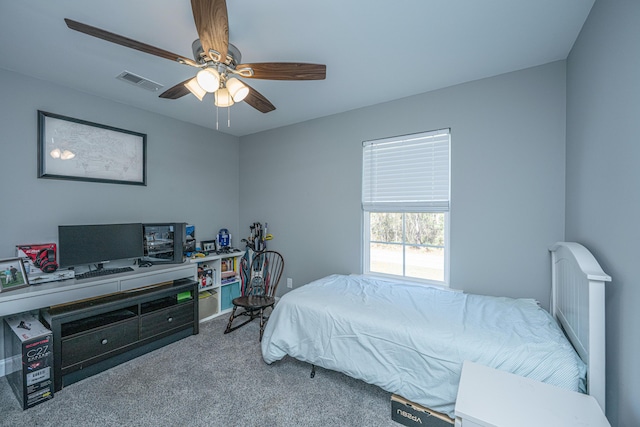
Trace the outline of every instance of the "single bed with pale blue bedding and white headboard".
{"type": "Polygon", "coordinates": [[[262,339],[453,418],[470,360],[595,396],[604,410],[604,283],[586,248],[551,249],[550,312],[532,299],[466,294],[363,275],[330,275],[285,294],[262,339]]]}

